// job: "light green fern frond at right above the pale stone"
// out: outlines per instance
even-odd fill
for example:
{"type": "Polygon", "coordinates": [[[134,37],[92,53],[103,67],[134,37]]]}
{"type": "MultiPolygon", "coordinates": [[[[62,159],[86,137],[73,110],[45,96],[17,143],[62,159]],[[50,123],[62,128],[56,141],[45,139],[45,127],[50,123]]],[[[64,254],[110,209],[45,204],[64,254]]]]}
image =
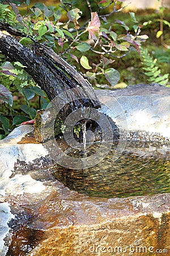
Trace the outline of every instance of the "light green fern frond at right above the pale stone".
{"type": "Polygon", "coordinates": [[[154,59],[154,57],[148,53],[147,49],[143,49],[142,47],[140,49],[142,68],[145,75],[148,77],[148,82],[158,82],[161,85],[167,85],[169,73],[161,75],[157,59],[154,59]]]}

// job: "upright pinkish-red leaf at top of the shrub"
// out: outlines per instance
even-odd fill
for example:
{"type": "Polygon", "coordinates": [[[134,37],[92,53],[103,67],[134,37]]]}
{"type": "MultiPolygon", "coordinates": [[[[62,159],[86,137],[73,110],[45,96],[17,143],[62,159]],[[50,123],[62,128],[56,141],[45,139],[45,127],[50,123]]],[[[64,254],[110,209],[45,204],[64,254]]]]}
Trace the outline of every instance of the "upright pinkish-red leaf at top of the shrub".
{"type": "Polygon", "coordinates": [[[96,39],[99,37],[100,19],[97,13],[91,13],[91,22],[88,22],[87,31],[89,39],[96,39]]]}

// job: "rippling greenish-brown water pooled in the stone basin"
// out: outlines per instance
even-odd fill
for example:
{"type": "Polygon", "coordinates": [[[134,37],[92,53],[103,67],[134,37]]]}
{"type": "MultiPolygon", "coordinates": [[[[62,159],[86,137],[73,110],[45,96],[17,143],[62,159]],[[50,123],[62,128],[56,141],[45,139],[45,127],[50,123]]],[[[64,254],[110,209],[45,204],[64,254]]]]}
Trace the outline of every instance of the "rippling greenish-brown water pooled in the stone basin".
{"type": "MultiPolygon", "coordinates": [[[[93,154],[99,143],[88,148],[93,154]]],[[[97,197],[128,197],[170,192],[170,150],[166,146],[127,144],[123,154],[113,162],[113,144],[107,157],[94,167],[71,170],[57,166],[53,175],[70,189],[97,197]]],[[[83,157],[84,152],[79,152],[83,157]]],[[[78,151],[69,155],[78,158],[78,151]]],[[[83,168],[83,167],[82,167],[83,168]]]]}

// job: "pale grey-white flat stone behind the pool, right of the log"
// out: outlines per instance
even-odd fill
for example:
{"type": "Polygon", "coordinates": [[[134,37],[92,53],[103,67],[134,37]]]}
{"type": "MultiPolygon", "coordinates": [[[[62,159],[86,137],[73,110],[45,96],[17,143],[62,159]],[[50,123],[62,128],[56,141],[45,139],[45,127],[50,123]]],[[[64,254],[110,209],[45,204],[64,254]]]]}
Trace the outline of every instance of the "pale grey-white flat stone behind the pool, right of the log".
{"type": "Polygon", "coordinates": [[[159,84],[130,85],[107,90],[108,97],[97,91],[103,102],[101,112],[112,117],[116,125],[129,131],[142,130],[170,138],[170,89],[159,84]],[[109,107],[109,108],[108,108],[109,107]],[[123,111],[122,111],[123,110],[123,111]]]}

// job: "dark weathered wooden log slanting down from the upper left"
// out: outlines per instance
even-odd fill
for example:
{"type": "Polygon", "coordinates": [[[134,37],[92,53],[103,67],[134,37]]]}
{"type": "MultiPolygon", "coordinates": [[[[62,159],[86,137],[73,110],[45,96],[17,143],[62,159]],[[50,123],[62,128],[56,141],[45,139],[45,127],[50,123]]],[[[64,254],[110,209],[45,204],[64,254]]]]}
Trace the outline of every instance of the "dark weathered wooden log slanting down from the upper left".
{"type": "MultiPolygon", "coordinates": [[[[32,49],[18,42],[15,36],[25,36],[14,30],[8,24],[0,22],[0,51],[10,60],[19,61],[26,66],[25,71],[45,91],[49,100],[68,89],[80,87],[80,100],[68,104],[64,112],[71,112],[82,106],[100,108],[91,84],[78,73],[74,67],[63,60],[52,49],[35,42],[32,39],[32,49]],[[7,31],[8,33],[6,33],[7,31]]],[[[19,38],[20,39],[20,38],[19,38]]],[[[70,99],[71,100],[71,99],[70,99]]],[[[63,113],[63,116],[66,116],[63,113]]]]}

